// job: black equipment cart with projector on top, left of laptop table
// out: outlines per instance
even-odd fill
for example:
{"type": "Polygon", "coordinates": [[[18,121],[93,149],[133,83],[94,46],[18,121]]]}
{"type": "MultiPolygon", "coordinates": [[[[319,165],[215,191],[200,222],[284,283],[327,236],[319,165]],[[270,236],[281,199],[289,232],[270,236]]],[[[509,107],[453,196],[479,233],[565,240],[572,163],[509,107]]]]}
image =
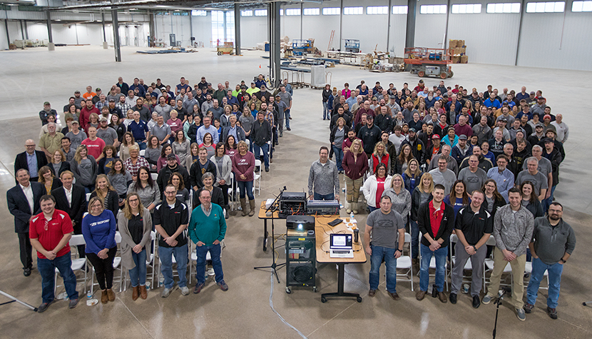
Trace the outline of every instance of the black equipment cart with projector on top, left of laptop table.
{"type": "MultiPolygon", "coordinates": [[[[295,217],[302,218],[302,216],[295,217]]],[[[286,293],[288,294],[292,293],[290,286],[312,287],[312,290],[317,292],[315,218],[310,218],[312,218],[312,229],[287,230],[285,251],[286,293]]]]}

